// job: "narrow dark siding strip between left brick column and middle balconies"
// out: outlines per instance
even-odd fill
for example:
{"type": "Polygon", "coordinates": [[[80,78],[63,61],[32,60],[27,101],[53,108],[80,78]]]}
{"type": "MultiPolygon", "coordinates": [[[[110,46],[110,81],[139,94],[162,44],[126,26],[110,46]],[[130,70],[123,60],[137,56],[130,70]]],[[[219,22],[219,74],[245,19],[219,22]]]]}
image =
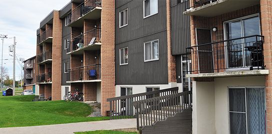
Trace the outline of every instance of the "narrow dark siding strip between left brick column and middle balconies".
{"type": "Polygon", "coordinates": [[[66,74],[64,73],[64,63],[69,62],[70,64],[70,55],[66,54],[64,49],[64,39],[69,37],[71,34],[71,27],[65,26],[65,20],[62,19],[62,42],[61,42],[61,85],[70,85],[66,83],[66,74]]]}

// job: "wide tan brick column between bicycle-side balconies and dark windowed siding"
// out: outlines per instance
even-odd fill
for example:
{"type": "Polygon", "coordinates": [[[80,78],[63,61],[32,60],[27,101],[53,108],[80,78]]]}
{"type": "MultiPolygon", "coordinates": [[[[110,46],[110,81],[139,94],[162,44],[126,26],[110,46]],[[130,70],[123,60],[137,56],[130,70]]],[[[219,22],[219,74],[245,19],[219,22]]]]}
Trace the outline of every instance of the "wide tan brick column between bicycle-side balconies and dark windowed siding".
{"type": "Polygon", "coordinates": [[[101,114],[106,115],[106,98],[115,96],[114,20],[115,0],[103,0],[101,11],[101,114]]]}

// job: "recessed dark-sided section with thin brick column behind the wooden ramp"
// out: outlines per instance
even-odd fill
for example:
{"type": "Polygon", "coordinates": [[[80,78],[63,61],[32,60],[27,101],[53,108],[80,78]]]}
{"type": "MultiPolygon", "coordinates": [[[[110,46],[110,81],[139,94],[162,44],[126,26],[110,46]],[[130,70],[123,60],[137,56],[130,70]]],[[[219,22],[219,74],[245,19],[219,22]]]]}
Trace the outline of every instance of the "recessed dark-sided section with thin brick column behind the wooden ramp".
{"type": "Polygon", "coordinates": [[[187,0],[115,0],[116,96],[189,90],[181,70],[190,29],[180,11],[187,7],[187,0]]]}

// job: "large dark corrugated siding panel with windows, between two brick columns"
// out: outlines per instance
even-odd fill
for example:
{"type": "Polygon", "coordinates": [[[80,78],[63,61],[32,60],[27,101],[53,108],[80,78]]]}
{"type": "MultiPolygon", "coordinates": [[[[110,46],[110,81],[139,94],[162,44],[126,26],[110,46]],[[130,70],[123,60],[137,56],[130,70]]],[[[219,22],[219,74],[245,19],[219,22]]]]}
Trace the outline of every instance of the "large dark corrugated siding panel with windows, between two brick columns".
{"type": "Polygon", "coordinates": [[[115,0],[116,84],[167,84],[166,1],[143,18],[143,0],[115,0]],[[125,3],[125,4],[124,4],[125,3]],[[128,25],[119,28],[119,11],[128,8],[128,25]],[[144,62],[143,43],[159,40],[159,60],[144,62]],[[128,65],[119,65],[119,48],[128,46],[128,65]]]}

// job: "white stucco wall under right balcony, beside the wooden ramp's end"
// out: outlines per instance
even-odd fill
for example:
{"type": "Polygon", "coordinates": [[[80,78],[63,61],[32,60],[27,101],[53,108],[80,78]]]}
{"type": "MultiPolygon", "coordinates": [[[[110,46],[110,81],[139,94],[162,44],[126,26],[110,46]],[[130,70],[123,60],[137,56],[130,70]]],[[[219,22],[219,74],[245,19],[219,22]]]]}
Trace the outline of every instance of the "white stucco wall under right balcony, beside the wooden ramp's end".
{"type": "Polygon", "coordinates": [[[213,134],[215,133],[213,82],[193,81],[192,84],[192,133],[213,134]]]}

